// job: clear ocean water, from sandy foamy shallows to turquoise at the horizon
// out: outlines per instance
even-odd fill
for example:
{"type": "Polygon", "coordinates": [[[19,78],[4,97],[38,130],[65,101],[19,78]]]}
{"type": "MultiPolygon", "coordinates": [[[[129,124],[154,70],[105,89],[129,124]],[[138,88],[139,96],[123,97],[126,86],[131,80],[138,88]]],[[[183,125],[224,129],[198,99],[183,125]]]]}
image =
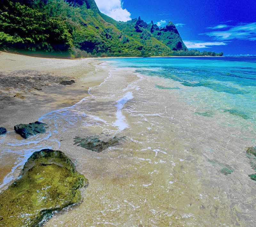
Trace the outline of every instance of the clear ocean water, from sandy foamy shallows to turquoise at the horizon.
{"type": "Polygon", "coordinates": [[[100,61],[108,77],[41,117],[46,133],[0,138],[18,156],[2,188],[34,151],[60,149],[89,186],[45,226],[255,226],[256,58],[100,61]],[[100,153],[72,147],[100,133],[124,139],[100,153]]]}

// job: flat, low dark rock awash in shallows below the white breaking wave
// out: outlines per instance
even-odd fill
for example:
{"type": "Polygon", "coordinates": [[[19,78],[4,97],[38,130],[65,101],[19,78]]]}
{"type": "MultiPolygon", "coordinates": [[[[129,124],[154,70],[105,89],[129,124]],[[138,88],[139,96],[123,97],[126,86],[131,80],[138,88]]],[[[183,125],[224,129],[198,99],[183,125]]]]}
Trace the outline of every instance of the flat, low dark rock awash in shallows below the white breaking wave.
{"type": "Polygon", "coordinates": [[[106,134],[101,134],[99,136],[90,136],[86,138],[81,138],[79,136],[76,136],[74,138],[74,145],[77,144],[77,146],[80,146],[82,148],[86,148],[88,150],[101,152],[105,150],[106,148],[109,148],[113,145],[116,145],[119,140],[123,139],[124,137],[116,137],[116,136],[110,136],[106,134]]]}

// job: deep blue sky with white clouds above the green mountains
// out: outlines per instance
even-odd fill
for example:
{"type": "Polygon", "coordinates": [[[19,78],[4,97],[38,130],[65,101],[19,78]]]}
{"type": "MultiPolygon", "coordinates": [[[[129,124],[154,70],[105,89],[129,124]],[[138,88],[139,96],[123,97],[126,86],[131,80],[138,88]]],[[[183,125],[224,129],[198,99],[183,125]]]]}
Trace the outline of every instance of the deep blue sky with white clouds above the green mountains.
{"type": "Polygon", "coordinates": [[[256,55],[256,0],[95,0],[101,12],[158,26],[172,21],[188,48],[256,55]]]}

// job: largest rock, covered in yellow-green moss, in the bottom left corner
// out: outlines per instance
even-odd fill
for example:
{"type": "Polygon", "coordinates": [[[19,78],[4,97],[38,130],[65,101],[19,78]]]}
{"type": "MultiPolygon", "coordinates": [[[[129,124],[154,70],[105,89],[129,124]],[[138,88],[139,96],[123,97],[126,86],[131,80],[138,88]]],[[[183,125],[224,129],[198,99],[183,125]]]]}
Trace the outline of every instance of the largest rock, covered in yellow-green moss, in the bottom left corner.
{"type": "Polygon", "coordinates": [[[36,151],[20,178],[0,194],[0,226],[36,226],[53,211],[78,203],[78,189],[87,185],[63,152],[36,151]]]}

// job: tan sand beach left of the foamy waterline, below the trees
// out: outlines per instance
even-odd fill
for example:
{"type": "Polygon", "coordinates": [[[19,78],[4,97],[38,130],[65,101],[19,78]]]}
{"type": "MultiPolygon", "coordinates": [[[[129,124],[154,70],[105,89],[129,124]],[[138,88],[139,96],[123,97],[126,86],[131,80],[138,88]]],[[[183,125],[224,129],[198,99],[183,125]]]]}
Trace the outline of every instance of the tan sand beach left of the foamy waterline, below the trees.
{"type": "MultiPolygon", "coordinates": [[[[89,87],[108,76],[99,72],[94,59],[29,57],[0,52],[0,127],[13,131],[14,125],[35,122],[45,114],[69,107],[88,96],[89,87]],[[74,80],[61,85],[63,80],[74,80]]],[[[17,138],[19,136],[17,135],[17,138]]],[[[1,157],[0,182],[17,156],[1,157]]]]}

